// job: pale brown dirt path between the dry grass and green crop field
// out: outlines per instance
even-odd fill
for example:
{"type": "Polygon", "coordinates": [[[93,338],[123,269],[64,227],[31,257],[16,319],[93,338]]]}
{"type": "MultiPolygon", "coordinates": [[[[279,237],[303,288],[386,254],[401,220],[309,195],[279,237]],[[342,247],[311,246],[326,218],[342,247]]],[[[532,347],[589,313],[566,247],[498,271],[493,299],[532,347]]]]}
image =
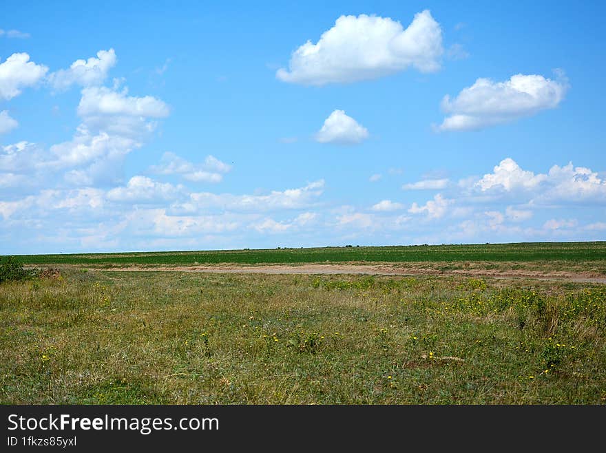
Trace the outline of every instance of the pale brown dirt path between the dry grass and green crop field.
{"type": "MultiPolygon", "coordinates": [[[[98,269],[91,269],[98,270],[98,269]]],[[[260,273],[260,274],[362,274],[362,275],[443,275],[492,277],[503,279],[531,278],[535,280],[558,280],[565,282],[600,283],[606,284],[606,277],[589,272],[567,271],[528,271],[528,270],[496,270],[496,269],[452,269],[442,271],[432,268],[410,268],[397,264],[302,264],[300,266],[262,265],[262,266],[176,266],[176,267],[124,267],[109,268],[103,271],[170,271],[170,272],[208,272],[208,273],[260,273]]]]}

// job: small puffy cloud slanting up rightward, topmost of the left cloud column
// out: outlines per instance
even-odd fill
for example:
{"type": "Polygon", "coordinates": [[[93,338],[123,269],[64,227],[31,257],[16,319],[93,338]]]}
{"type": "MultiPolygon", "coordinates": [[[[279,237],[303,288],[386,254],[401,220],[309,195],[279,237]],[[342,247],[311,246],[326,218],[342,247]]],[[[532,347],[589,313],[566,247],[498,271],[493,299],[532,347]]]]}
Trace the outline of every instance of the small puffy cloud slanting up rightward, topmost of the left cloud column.
{"type": "Polygon", "coordinates": [[[109,70],[116,65],[114,49],[99,50],[97,58],[76,60],[69,69],[50,74],[49,82],[58,91],[63,91],[74,83],[83,87],[99,85],[105,81],[109,70]]]}

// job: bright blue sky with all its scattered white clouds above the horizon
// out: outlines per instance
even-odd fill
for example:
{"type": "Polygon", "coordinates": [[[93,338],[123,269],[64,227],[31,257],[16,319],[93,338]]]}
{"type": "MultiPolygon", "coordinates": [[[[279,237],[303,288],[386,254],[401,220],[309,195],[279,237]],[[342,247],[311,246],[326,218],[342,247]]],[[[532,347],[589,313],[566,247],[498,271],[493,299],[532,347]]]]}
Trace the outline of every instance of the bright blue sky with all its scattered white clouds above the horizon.
{"type": "Polygon", "coordinates": [[[0,254],[605,239],[603,3],[2,9],[0,254]]]}

